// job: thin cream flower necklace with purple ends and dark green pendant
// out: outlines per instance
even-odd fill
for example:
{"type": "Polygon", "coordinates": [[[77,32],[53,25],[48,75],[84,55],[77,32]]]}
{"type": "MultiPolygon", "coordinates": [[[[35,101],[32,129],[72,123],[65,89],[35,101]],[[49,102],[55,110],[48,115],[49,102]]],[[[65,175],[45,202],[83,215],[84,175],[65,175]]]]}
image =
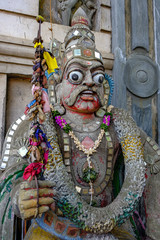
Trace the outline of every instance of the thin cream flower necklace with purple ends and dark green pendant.
{"type": "Polygon", "coordinates": [[[99,136],[97,140],[94,142],[93,147],[90,147],[89,149],[85,148],[84,145],[79,141],[79,139],[74,135],[71,126],[66,122],[64,118],[60,116],[60,113],[57,110],[56,111],[53,110],[52,114],[55,119],[55,122],[61,127],[61,129],[63,129],[65,133],[67,133],[73,139],[76,147],[87,155],[86,160],[88,164],[87,167],[83,169],[83,180],[90,185],[89,189],[89,194],[91,195],[90,204],[92,204],[94,194],[93,183],[97,179],[98,173],[92,167],[91,155],[96,152],[96,149],[99,147],[102,141],[104,133],[108,131],[112,119],[112,113],[108,111],[103,116],[103,123],[100,126],[101,131],[99,133],[99,136]]]}

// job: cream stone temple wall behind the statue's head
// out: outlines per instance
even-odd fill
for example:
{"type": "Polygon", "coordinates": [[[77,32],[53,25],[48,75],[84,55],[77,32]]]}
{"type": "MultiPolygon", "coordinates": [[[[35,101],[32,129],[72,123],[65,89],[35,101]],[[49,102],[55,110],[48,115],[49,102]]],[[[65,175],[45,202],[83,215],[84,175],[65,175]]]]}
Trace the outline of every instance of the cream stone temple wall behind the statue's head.
{"type": "MultiPolygon", "coordinates": [[[[30,78],[34,59],[33,39],[37,36],[39,0],[0,1],[0,152],[10,124],[24,112],[32,98],[30,78]]],[[[51,39],[49,22],[42,24],[44,46],[51,39]]],[[[69,26],[52,24],[53,37],[63,42],[69,26]]],[[[101,0],[95,33],[97,49],[102,53],[109,74],[113,68],[111,53],[111,4],[101,0]]]]}

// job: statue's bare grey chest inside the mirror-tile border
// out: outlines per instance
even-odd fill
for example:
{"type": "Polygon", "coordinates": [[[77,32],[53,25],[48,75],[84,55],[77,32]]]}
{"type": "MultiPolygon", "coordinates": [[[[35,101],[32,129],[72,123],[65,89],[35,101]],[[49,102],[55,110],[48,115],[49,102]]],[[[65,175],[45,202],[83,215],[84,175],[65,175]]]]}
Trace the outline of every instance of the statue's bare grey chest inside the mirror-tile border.
{"type": "MultiPolygon", "coordinates": [[[[81,139],[81,143],[86,149],[92,148],[94,146],[95,141],[93,141],[94,138],[92,135],[83,134],[83,136],[80,137],[79,134],[79,139],[81,139]]],[[[107,170],[107,156],[107,143],[105,138],[103,138],[99,147],[96,149],[96,152],[89,156],[93,174],[96,174],[95,180],[93,180],[94,187],[99,186],[105,179],[107,170]]],[[[87,154],[76,148],[76,145],[73,143],[73,141],[71,142],[70,163],[74,182],[78,184],[79,187],[81,185],[82,188],[85,189],[85,187],[88,186],[88,183],[85,180],[85,175],[87,177],[88,168],[87,154]]]]}

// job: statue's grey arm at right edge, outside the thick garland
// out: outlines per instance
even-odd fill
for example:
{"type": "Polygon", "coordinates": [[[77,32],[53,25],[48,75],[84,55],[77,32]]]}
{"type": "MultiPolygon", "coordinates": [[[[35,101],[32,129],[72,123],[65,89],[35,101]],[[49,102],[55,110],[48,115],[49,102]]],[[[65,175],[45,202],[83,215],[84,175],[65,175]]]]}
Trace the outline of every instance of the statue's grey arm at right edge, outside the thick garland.
{"type": "Polygon", "coordinates": [[[146,165],[146,186],[144,189],[144,203],[146,212],[147,240],[160,239],[160,147],[141,130],[141,139],[144,145],[146,165]]]}

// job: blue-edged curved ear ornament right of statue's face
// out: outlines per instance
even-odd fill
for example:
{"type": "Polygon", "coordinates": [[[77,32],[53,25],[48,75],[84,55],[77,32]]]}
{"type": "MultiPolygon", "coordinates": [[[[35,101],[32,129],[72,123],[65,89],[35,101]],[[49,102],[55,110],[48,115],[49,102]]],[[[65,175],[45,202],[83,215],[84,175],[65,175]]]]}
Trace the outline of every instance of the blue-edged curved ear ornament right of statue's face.
{"type": "Polygon", "coordinates": [[[113,79],[105,73],[105,80],[103,82],[104,87],[104,105],[98,109],[96,112],[97,117],[103,117],[106,113],[107,107],[111,104],[112,96],[113,96],[113,89],[114,89],[114,82],[113,79]]]}

